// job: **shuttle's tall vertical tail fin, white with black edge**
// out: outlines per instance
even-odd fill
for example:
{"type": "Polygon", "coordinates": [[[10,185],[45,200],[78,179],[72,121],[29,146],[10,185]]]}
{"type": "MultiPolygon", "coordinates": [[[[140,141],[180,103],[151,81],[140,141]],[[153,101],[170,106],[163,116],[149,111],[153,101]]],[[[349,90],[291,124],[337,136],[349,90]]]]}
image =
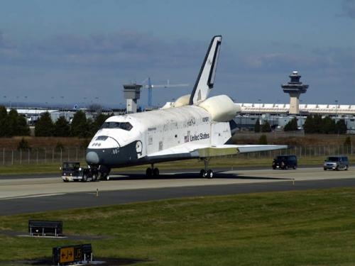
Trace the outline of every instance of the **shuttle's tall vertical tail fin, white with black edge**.
{"type": "Polygon", "coordinates": [[[209,91],[213,88],[216,75],[219,48],[221,48],[222,36],[214,36],[209,44],[207,54],[204,57],[200,73],[195,82],[194,89],[190,96],[190,105],[197,104],[207,99],[209,91]]]}

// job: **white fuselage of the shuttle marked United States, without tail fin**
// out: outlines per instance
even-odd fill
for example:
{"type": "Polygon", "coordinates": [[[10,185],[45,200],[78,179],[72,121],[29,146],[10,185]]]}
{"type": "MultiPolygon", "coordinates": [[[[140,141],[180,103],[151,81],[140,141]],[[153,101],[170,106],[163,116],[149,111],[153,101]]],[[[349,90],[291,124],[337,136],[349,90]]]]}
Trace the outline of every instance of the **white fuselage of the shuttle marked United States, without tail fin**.
{"type": "Polygon", "coordinates": [[[111,167],[149,163],[148,157],[161,154],[164,155],[161,161],[175,160],[177,147],[197,143],[219,145],[231,138],[229,123],[211,121],[209,112],[199,106],[111,116],[105,123],[131,125],[130,130],[102,128],[89,143],[88,150],[106,157],[104,163],[111,167]]]}

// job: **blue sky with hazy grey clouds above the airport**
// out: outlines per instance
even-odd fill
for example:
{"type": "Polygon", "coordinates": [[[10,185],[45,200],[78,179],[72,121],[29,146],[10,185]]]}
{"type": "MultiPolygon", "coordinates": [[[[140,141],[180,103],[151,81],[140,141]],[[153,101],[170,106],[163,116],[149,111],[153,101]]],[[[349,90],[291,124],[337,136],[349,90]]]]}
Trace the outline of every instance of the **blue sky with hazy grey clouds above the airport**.
{"type": "Polygon", "coordinates": [[[302,104],[355,104],[355,0],[1,0],[0,102],[119,107],[122,84],[190,84],[154,89],[163,105],[190,94],[213,35],[212,95],[288,103],[297,70],[302,104]]]}

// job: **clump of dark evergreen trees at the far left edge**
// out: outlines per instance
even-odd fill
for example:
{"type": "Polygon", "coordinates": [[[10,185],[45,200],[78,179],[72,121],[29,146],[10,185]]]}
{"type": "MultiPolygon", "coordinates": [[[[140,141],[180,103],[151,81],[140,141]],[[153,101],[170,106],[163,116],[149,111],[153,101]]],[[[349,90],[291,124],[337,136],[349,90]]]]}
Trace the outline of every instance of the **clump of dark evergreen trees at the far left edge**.
{"type": "Polygon", "coordinates": [[[7,112],[5,106],[0,106],[0,137],[12,137],[14,135],[30,135],[26,117],[15,109],[7,112]]]}

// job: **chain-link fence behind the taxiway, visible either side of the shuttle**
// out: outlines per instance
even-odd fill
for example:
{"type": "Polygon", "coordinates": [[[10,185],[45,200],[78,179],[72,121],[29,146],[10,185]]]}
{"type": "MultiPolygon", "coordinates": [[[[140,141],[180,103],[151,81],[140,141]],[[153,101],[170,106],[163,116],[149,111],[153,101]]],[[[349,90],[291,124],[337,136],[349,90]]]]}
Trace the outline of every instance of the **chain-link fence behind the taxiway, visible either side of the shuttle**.
{"type": "MultiPolygon", "coordinates": [[[[324,145],[324,146],[295,146],[287,150],[273,150],[268,152],[245,153],[231,157],[239,158],[268,158],[277,155],[297,155],[302,157],[327,157],[329,155],[354,155],[352,145],[324,145]]],[[[43,165],[61,163],[63,161],[84,161],[86,149],[84,148],[33,148],[31,150],[0,149],[1,165],[43,165]]],[[[229,157],[229,156],[226,156],[229,157]]]]}

